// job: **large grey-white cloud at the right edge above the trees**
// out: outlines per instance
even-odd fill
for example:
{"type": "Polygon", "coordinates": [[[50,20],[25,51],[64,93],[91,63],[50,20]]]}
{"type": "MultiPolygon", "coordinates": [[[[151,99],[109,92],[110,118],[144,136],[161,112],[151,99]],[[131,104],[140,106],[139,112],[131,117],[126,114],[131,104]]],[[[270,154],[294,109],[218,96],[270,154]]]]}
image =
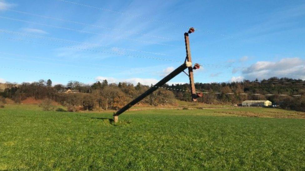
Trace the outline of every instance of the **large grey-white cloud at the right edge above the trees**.
{"type": "Polygon", "coordinates": [[[277,62],[258,61],[244,69],[242,74],[250,80],[270,77],[305,79],[305,60],[301,58],[284,58],[277,62]]]}

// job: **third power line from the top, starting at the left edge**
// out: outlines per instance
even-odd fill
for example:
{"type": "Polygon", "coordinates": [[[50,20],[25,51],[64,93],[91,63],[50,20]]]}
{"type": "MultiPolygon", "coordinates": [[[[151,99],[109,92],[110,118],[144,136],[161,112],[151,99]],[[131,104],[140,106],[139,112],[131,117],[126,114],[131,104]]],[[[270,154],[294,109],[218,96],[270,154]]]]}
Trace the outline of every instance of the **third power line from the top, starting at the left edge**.
{"type": "MultiPolygon", "coordinates": [[[[151,41],[145,41],[145,40],[137,40],[137,39],[129,39],[129,38],[119,37],[119,36],[112,36],[112,35],[109,35],[109,34],[102,34],[102,33],[90,32],[90,31],[77,30],[77,29],[72,29],[72,28],[68,28],[68,27],[53,26],[53,25],[42,24],[42,23],[37,23],[37,22],[32,22],[32,21],[26,21],[26,20],[20,20],[20,19],[10,18],[10,17],[3,17],[3,16],[0,16],[0,18],[8,19],[8,20],[14,20],[14,21],[20,21],[20,22],[26,22],[26,23],[31,23],[31,24],[37,24],[37,25],[41,25],[41,26],[48,26],[48,27],[60,28],[60,29],[65,29],[65,30],[70,30],[70,31],[78,31],[78,32],[87,33],[87,34],[93,34],[93,35],[108,36],[108,37],[113,37],[113,38],[118,38],[118,39],[124,39],[124,40],[133,40],[133,41],[138,41],[138,42],[142,42],[142,43],[149,43],[149,44],[156,44],[156,45],[163,45],[163,46],[176,46],[176,45],[169,45],[169,44],[157,43],[157,42],[151,42],[151,41]]],[[[178,46],[178,47],[179,47],[179,46],[178,46]]]]}

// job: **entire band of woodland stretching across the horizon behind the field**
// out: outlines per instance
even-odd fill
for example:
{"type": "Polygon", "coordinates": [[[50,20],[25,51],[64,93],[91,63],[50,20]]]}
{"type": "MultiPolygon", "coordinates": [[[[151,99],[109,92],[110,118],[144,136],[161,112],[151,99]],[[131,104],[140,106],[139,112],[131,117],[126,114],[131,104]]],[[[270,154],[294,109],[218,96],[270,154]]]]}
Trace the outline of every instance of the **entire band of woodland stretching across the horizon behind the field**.
{"type": "MultiPolygon", "coordinates": [[[[198,102],[206,104],[240,104],[244,100],[269,100],[285,109],[305,111],[305,85],[302,80],[291,78],[272,77],[267,80],[244,80],[232,83],[196,83],[197,91],[209,92],[198,98],[198,102]],[[215,93],[222,94],[215,94],[215,93]],[[234,93],[234,94],[227,94],[234,93]],[[246,93],[248,95],[240,95],[246,93]],[[260,95],[250,95],[260,94],[260,95]],[[263,94],[275,94],[266,96],[263,94]],[[279,96],[279,94],[302,95],[300,97],[279,96]]],[[[165,84],[165,88],[190,90],[189,84],[165,84]]],[[[66,86],[57,84],[52,86],[51,80],[39,80],[33,83],[16,85],[7,83],[7,88],[1,92],[1,97],[10,98],[20,103],[27,97],[35,99],[52,99],[69,110],[76,111],[79,107],[84,110],[117,110],[130,102],[133,98],[145,92],[149,86],[138,83],[111,83],[107,80],[96,82],[92,85],[78,81],[69,81],[66,86]],[[66,89],[77,90],[79,93],[63,93],[66,89]]],[[[140,104],[145,105],[168,105],[174,100],[191,101],[190,92],[170,91],[159,88],[156,92],[145,98],[140,104]]]]}

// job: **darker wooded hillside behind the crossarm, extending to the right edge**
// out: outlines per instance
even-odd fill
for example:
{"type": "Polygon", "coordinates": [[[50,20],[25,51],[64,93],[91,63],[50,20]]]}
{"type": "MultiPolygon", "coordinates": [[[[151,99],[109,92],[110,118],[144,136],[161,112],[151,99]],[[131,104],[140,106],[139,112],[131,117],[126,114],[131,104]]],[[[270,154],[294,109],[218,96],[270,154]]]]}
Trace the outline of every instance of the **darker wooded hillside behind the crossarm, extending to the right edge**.
{"type": "MultiPolygon", "coordinates": [[[[164,87],[190,90],[189,84],[165,85],[164,87]]],[[[195,87],[196,91],[209,92],[209,94],[204,94],[202,98],[197,99],[198,102],[206,104],[240,104],[245,100],[269,100],[272,104],[284,109],[305,111],[305,83],[301,79],[272,77],[261,81],[256,79],[254,81],[243,80],[242,82],[232,83],[195,83],[195,87]],[[266,94],[273,95],[268,96],[266,94]],[[280,96],[281,94],[287,96],[280,96]],[[292,95],[301,96],[293,97],[292,95]]],[[[179,100],[191,100],[187,93],[181,91],[174,91],[173,93],[179,100]]]]}

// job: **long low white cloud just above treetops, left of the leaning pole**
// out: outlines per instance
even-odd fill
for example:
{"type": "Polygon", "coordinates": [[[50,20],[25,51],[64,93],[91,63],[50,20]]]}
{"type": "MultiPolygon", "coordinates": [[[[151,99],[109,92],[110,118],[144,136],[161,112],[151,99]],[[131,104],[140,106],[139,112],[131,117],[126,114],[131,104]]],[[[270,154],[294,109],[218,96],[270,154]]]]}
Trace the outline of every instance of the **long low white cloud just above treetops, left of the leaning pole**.
{"type": "Polygon", "coordinates": [[[151,84],[156,84],[158,83],[157,79],[154,78],[128,78],[128,79],[116,79],[112,77],[102,77],[98,76],[95,78],[97,81],[103,81],[107,80],[108,83],[119,83],[119,82],[128,82],[132,83],[133,85],[136,85],[137,83],[141,83],[143,85],[151,85],[151,84]]]}

